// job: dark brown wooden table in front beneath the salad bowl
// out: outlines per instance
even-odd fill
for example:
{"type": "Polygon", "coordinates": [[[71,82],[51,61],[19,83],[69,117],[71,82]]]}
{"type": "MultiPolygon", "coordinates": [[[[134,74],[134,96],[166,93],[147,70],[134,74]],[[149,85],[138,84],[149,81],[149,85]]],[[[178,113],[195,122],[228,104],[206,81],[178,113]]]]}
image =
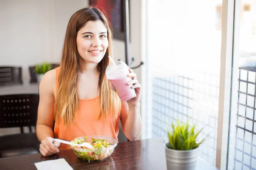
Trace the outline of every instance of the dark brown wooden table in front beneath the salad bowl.
{"type": "MultiPolygon", "coordinates": [[[[119,143],[112,155],[102,161],[79,159],[73,150],[44,157],[40,153],[0,159],[1,170],[37,170],[35,162],[64,158],[74,170],[166,170],[165,150],[161,138],[119,143]]],[[[197,170],[217,170],[198,158],[197,170]]]]}

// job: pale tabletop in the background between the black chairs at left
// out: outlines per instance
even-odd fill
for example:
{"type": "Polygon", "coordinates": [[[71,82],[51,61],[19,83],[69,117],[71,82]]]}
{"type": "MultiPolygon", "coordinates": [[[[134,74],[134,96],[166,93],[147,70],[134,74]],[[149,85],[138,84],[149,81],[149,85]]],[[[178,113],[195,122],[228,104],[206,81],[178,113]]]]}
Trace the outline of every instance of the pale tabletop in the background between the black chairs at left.
{"type": "Polygon", "coordinates": [[[9,94],[39,94],[39,85],[38,83],[24,81],[20,85],[0,86],[0,95],[9,94]]]}

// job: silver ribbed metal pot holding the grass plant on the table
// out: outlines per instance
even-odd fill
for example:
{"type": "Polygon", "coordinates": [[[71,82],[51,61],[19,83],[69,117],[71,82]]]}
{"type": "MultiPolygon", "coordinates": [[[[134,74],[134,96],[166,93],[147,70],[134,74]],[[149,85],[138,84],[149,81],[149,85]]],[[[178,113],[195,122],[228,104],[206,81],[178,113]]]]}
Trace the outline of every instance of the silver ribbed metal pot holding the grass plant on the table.
{"type": "Polygon", "coordinates": [[[166,153],[167,170],[195,170],[198,148],[192,150],[169,149],[169,142],[163,145],[166,153]]]}

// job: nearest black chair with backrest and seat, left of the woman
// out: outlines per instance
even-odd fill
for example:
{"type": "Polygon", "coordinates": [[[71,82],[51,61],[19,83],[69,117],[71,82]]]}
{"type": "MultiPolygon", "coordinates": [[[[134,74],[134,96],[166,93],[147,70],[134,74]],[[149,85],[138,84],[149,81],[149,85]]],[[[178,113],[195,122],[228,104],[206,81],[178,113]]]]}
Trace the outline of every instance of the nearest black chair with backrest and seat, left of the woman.
{"type": "Polygon", "coordinates": [[[0,158],[39,153],[40,142],[31,127],[36,125],[38,94],[0,96],[0,128],[20,127],[21,133],[0,136],[0,158]],[[30,133],[23,133],[29,127],[30,133]]]}

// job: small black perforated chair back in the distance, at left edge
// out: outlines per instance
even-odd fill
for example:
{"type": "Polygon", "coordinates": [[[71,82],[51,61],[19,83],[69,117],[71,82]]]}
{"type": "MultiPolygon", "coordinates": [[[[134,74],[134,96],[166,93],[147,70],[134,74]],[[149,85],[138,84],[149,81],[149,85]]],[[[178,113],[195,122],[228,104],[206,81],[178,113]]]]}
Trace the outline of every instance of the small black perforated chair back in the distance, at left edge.
{"type": "Polygon", "coordinates": [[[0,67],[0,85],[22,84],[21,67],[0,67]]]}

